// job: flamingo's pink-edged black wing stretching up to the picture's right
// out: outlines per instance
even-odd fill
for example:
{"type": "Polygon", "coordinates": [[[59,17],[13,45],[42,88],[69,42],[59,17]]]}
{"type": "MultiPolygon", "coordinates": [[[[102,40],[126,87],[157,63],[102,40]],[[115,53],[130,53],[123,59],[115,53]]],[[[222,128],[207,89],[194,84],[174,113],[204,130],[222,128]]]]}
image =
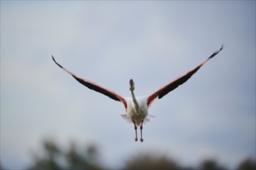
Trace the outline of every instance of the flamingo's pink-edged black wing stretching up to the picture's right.
{"type": "Polygon", "coordinates": [[[204,60],[202,63],[199,63],[198,66],[195,66],[194,69],[189,70],[189,72],[178,76],[175,80],[171,81],[171,83],[166,84],[164,87],[161,87],[154,93],[150,94],[147,99],[147,106],[150,106],[152,102],[158,97],[158,99],[161,99],[161,97],[164,97],[166,94],[168,94],[171,90],[175,90],[179,85],[182,83],[185,83],[189,78],[197,72],[197,70],[200,69],[200,67],[205,64],[209,59],[212,59],[213,56],[216,56],[217,53],[219,53],[223,49],[223,45],[220,47],[219,50],[217,50],[215,53],[212,54],[212,56],[209,56],[206,60],[204,60]]]}

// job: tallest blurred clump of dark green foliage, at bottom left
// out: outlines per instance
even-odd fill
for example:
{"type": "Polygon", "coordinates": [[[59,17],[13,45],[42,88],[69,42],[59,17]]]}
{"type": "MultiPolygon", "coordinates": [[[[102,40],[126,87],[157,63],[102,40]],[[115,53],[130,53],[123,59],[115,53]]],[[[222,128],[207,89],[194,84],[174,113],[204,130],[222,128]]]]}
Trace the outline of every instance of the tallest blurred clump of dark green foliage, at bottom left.
{"type": "Polygon", "coordinates": [[[98,162],[98,150],[95,145],[78,149],[71,143],[67,151],[60,148],[55,141],[47,139],[43,142],[43,155],[33,154],[34,163],[28,169],[42,170],[98,170],[102,169],[98,162]]]}

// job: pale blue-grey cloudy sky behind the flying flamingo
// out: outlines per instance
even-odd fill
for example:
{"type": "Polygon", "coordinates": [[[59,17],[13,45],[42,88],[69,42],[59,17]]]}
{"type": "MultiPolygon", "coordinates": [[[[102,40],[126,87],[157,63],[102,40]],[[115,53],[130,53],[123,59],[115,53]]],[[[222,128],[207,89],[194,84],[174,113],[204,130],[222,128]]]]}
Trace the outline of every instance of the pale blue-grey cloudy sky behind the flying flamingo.
{"type": "Polygon", "coordinates": [[[195,165],[255,158],[255,2],[1,1],[1,163],[24,168],[47,136],[99,145],[104,165],[148,149],[195,165]],[[225,48],[150,107],[135,142],[123,104],[68,70],[130,96],[147,95],[225,48]]]}

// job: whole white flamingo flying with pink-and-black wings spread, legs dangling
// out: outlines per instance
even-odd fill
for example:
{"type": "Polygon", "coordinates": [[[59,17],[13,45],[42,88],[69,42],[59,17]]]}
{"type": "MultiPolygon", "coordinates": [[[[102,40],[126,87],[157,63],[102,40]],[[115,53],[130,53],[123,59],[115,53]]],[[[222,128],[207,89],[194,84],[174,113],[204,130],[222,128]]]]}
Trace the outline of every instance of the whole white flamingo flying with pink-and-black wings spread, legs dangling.
{"type": "Polygon", "coordinates": [[[211,56],[205,59],[202,63],[199,63],[198,66],[195,66],[195,68],[193,68],[192,70],[189,70],[187,73],[182,74],[181,76],[178,76],[175,80],[164,85],[163,87],[160,87],[158,90],[154,91],[154,93],[151,93],[150,95],[145,97],[135,97],[135,94],[134,94],[135,83],[133,79],[130,80],[130,88],[129,88],[131,97],[123,97],[119,93],[116,93],[113,90],[109,90],[106,87],[102,87],[97,83],[94,83],[90,80],[86,80],[80,76],[75,75],[74,73],[71,73],[69,70],[61,66],[61,64],[57,63],[57,61],[54,59],[54,56],[52,56],[52,59],[54,60],[54,63],[57,64],[57,66],[60,66],[61,69],[69,73],[71,76],[74,77],[75,80],[78,80],[78,82],[83,84],[85,87],[88,87],[91,90],[95,90],[99,93],[102,93],[107,97],[110,97],[112,100],[122,102],[125,107],[126,114],[122,114],[121,116],[124,119],[126,119],[126,121],[133,123],[134,129],[135,129],[135,141],[138,140],[137,127],[138,126],[140,127],[140,141],[143,142],[144,139],[142,138],[142,129],[143,129],[143,124],[150,120],[149,119],[150,114],[148,114],[148,109],[150,107],[150,104],[152,104],[156,98],[161,99],[172,90],[175,90],[179,85],[189,80],[189,78],[194,73],[196,73],[197,70],[199,70],[203,64],[208,62],[209,59],[212,59],[213,56],[216,56],[216,54],[218,54],[222,49],[223,49],[223,45],[220,47],[219,50],[216,50],[215,53],[213,53],[211,56]]]}

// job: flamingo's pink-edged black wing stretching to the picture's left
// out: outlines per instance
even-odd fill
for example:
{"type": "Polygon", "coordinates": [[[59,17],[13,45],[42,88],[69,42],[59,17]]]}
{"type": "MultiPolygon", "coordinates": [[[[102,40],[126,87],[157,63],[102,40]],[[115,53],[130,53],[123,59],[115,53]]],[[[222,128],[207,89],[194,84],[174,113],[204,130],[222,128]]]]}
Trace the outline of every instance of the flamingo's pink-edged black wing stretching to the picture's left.
{"type": "Polygon", "coordinates": [[[112,98],[112,100],[121,101],[124,104],[124,107],[127,108],[126,100],[121,95],[105,87],[101,87],[97,83],[94,83],[90,80],[86,80],[84,78],[81,78],[80,76],[75,75],[74,73],[71,73],[70,71],[65,69],[63,66],[61,66],[61,64],[57,63],[56,60],[54,59],[54,56],[52,56],[52,58],[54,60],[54,63],[57,64],[57,66],[60,66],[61,69],[63,69],[65,72],[71,74],[71,76],[73,76],[75,80],[78,80],[79,83],[83,84],[85,87],[88,87],[91,90],[95,90],[99,93],[106,95],[107,97],[112,98]]]}

